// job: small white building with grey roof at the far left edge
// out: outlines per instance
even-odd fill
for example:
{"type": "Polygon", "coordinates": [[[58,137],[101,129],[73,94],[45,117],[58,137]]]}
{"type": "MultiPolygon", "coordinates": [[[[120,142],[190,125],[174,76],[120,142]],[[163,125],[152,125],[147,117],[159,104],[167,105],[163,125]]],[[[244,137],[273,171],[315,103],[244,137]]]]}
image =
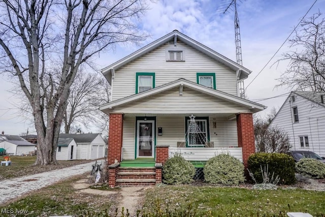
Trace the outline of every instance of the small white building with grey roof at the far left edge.
{"type": "Polygon", "coordinates": [[[0,135],[0,148],[5,148],[8,155],[21,156],[35,151],[35,144],[32,144],[20,136],[0,135]]]}

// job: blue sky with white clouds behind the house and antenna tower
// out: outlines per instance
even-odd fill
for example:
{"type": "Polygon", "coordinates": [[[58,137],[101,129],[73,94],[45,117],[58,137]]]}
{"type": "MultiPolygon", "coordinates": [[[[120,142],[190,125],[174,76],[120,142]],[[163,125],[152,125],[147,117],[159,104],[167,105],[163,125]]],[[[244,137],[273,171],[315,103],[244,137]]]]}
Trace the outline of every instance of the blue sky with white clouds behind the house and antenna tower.
{"type": "MultiPolygon", "coordinates": [[[[95,63],[99,69],[104,68],[174,29],[236,61],[234,12],[220,13],[218,9],[224,2],[228,1],[149,2],[150,10],[141,19],[139,27],[151,36],[141,46],[122,44],[114,51],[102,52],[98,58],[96,57],[95,63]]],[[[245,80],[245,86],[247,86],[274,55],[294,26],[299,23],[314,0],[242,0],[239,3],[237,9],[243,66],[252,71],[245,80]]],[[[318,0],[306,17],[324,8],[325,0],[318,0]]],[[[321,12],[325,13],[325,10],[321,12]]],[[[282,53],[289,50],[286,43],[271,63],[248,86],[246,94],[250,100],[274,97],[290,91],[287,87],[275,88],[275,85],[279,84],[275,79],[284,72],[287,63],[283,62],[278,67],[271,67],[282,53]]],[[[12,85],[7,81],[6,76],[0,75],[0,131],[5,131],[6,134],[20,134],[26,132],[29,127],[29,131],[32,132],[33,127],[29,125],[29,122],[15,115],[11,102],[19,103],[19,101],[7,92],[12,85]]],[[[264,116],[272,107],[279,108],[286,96],[258,102],[269,107],[259,114],[264,116]]]]}

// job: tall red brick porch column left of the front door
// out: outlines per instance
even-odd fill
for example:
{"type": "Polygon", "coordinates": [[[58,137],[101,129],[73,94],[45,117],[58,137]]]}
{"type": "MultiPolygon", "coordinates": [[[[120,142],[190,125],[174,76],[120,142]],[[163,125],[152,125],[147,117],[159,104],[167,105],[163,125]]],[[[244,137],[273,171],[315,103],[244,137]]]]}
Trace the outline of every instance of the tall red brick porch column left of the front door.
{"type": "Polygon", "coordinates": [[[110,114],[107,164],[121,162],[121,148],[123,139],[123,114],[110,114]]]}

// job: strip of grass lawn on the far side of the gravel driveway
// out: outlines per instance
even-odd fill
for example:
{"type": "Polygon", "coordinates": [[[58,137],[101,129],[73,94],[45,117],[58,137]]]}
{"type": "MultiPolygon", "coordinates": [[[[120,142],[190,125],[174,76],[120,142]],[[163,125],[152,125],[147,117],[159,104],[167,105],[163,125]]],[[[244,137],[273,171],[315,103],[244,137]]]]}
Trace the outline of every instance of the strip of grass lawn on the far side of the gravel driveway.
{"type": "MultiPolygon", "coordinates": [[[[0,156],[0,160],[4,160],[0,156]]],[[[36,156],[10,156],[11,165],[0,167],[0,180],[14,178],[23,175],[36,174],[50,170],[70,167],[77,164],[91,162],[92,160],[74,160],[74,161],[59,161],[59,165],[34,166],[36,156]]]]}

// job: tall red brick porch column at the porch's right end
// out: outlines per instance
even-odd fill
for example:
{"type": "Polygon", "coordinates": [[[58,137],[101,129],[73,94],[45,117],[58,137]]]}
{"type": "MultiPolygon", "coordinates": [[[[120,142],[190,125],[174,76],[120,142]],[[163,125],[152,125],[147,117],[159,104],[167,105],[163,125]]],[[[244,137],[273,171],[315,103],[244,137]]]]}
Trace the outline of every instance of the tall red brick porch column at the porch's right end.
{"type": "Polygon", "coordinates": [[[255,136],[252,113],[241,113],[237,115],[237,134],[238,147],[242,147],[243,149],[243,162],[245,166],[245,174],[247,175],[248,157],[250,154],[255,153],[255,136]]]}

